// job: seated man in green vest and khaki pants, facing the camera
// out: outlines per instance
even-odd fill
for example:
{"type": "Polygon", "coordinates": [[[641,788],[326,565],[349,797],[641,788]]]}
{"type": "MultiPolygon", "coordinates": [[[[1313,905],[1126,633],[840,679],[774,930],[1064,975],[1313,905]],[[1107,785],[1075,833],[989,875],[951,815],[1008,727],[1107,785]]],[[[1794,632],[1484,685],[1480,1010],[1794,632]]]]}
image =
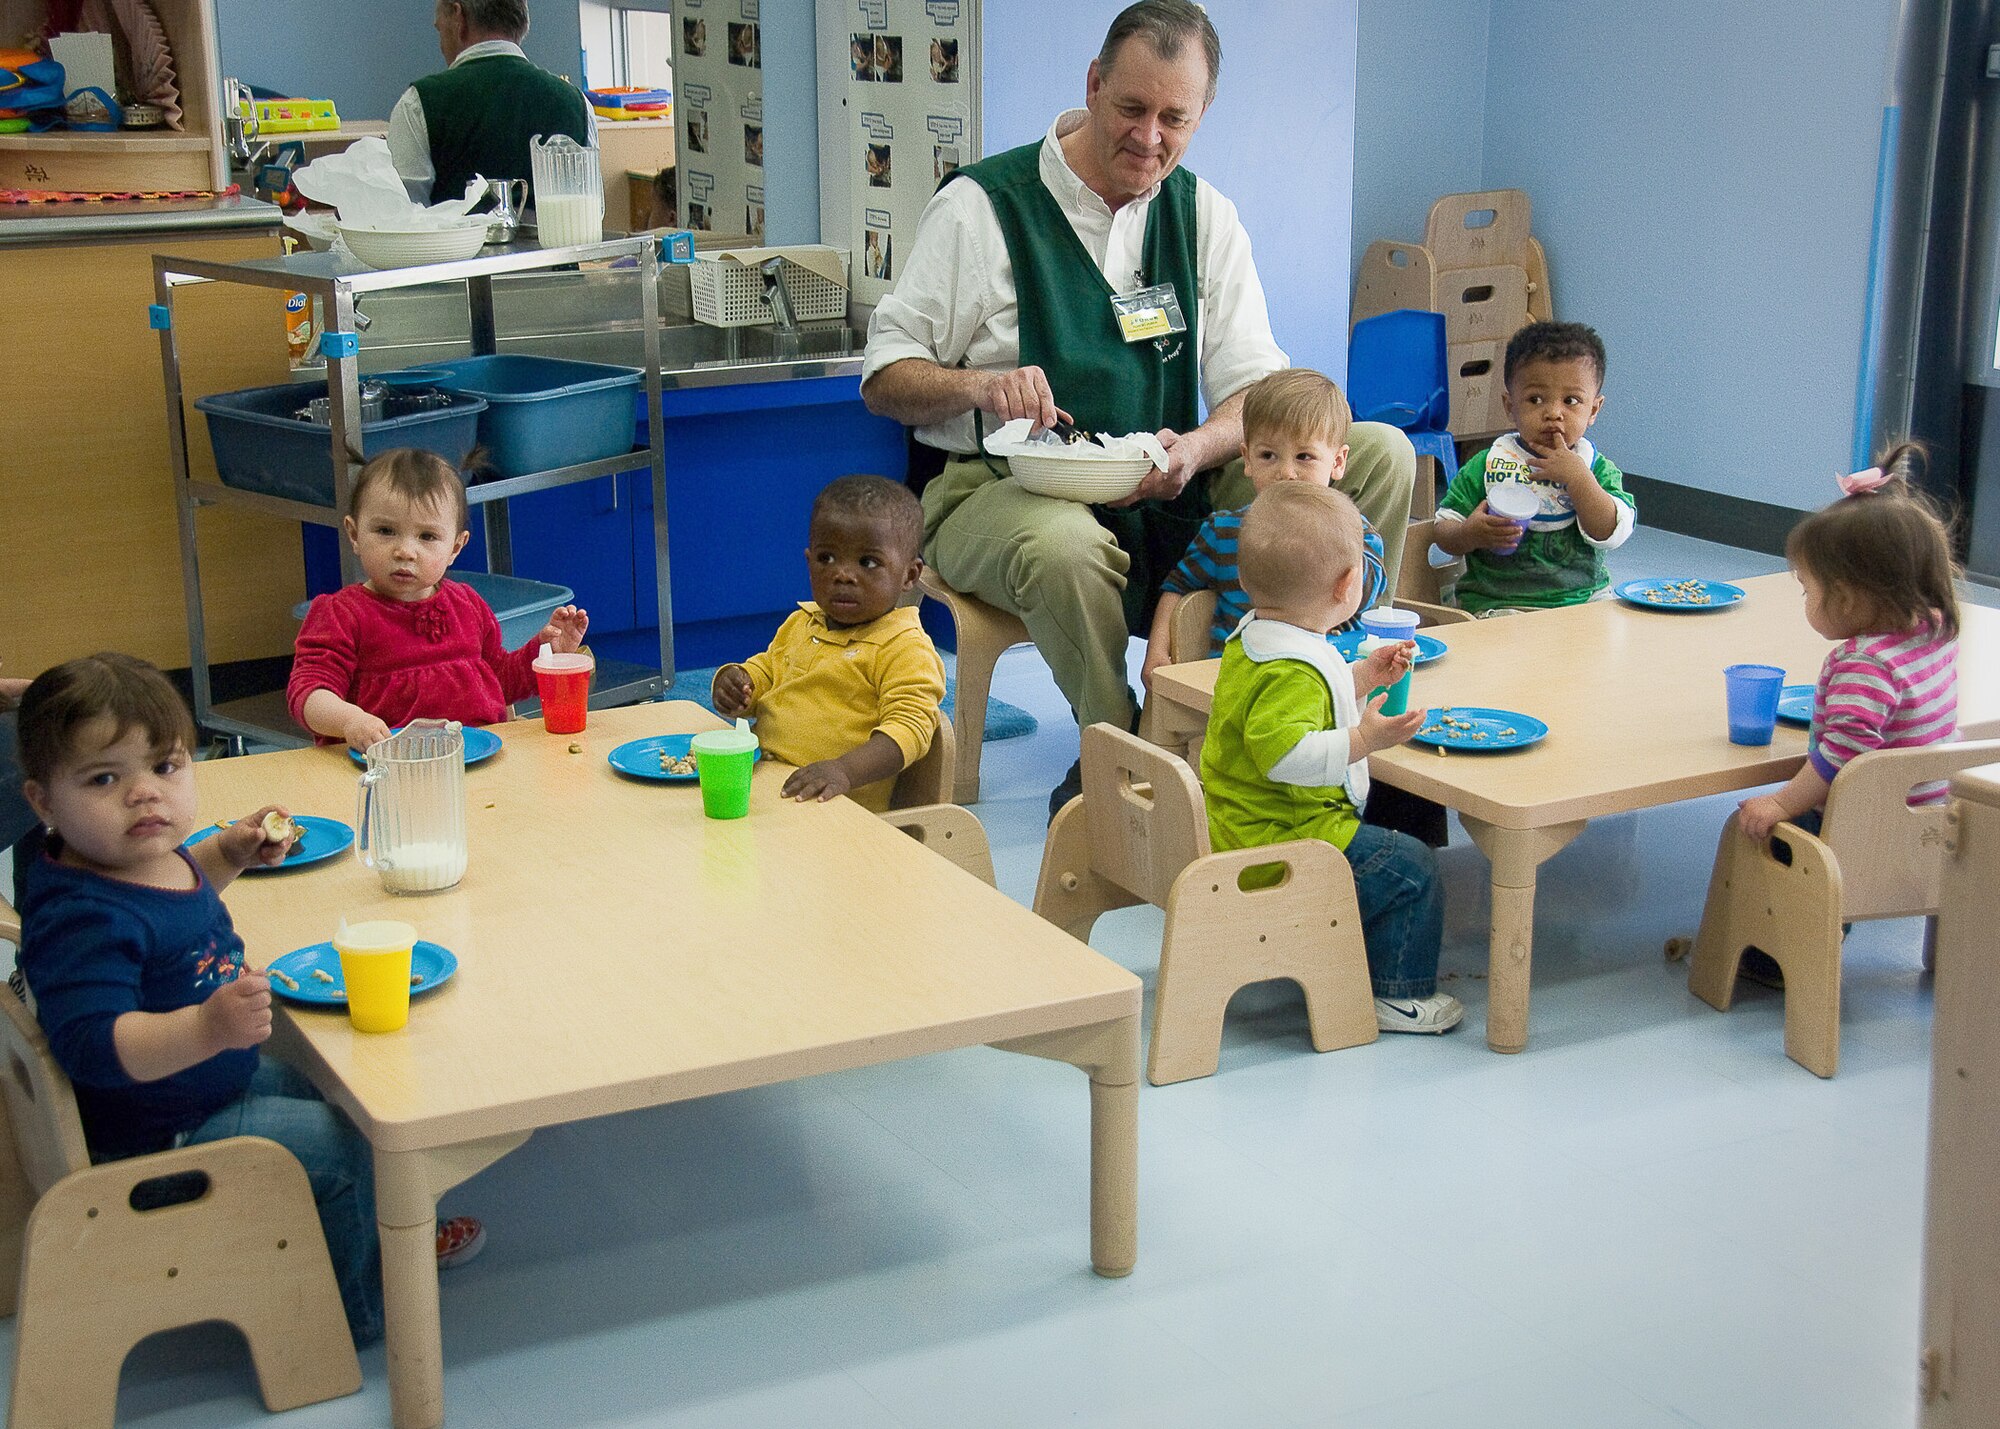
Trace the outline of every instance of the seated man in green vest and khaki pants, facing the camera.
{"type": "MultiPolygon", "coordinates": [[[[1244,388],[1286,366],[1236,206],[1180,168],[1220,68],[1198,4],[1120,12],[1084,108],[946,178],[868,326],[862,398],[942,462],[922,492],[924,558],[1022,618],[1078,725],[1132,727],[1126,640],[1202,518],[1250,500],[1244,388]],[[1122,324],[1114,300],[1130,294],[1148,300],[1122,306],[1172,294],[1184,326],[1122,324]],[[1036,496],[980,446],[1018,416],[1158,432],[1170,468],[1118,506],[1036,496]]],[[[1340,488],[1382,534],[1394,590],[1416,454],[1382,422],[1356,422],[1348,444],[1340,488]]],[[[1080,781],[1072,767],[1050,817],[1080,781]]]]}

